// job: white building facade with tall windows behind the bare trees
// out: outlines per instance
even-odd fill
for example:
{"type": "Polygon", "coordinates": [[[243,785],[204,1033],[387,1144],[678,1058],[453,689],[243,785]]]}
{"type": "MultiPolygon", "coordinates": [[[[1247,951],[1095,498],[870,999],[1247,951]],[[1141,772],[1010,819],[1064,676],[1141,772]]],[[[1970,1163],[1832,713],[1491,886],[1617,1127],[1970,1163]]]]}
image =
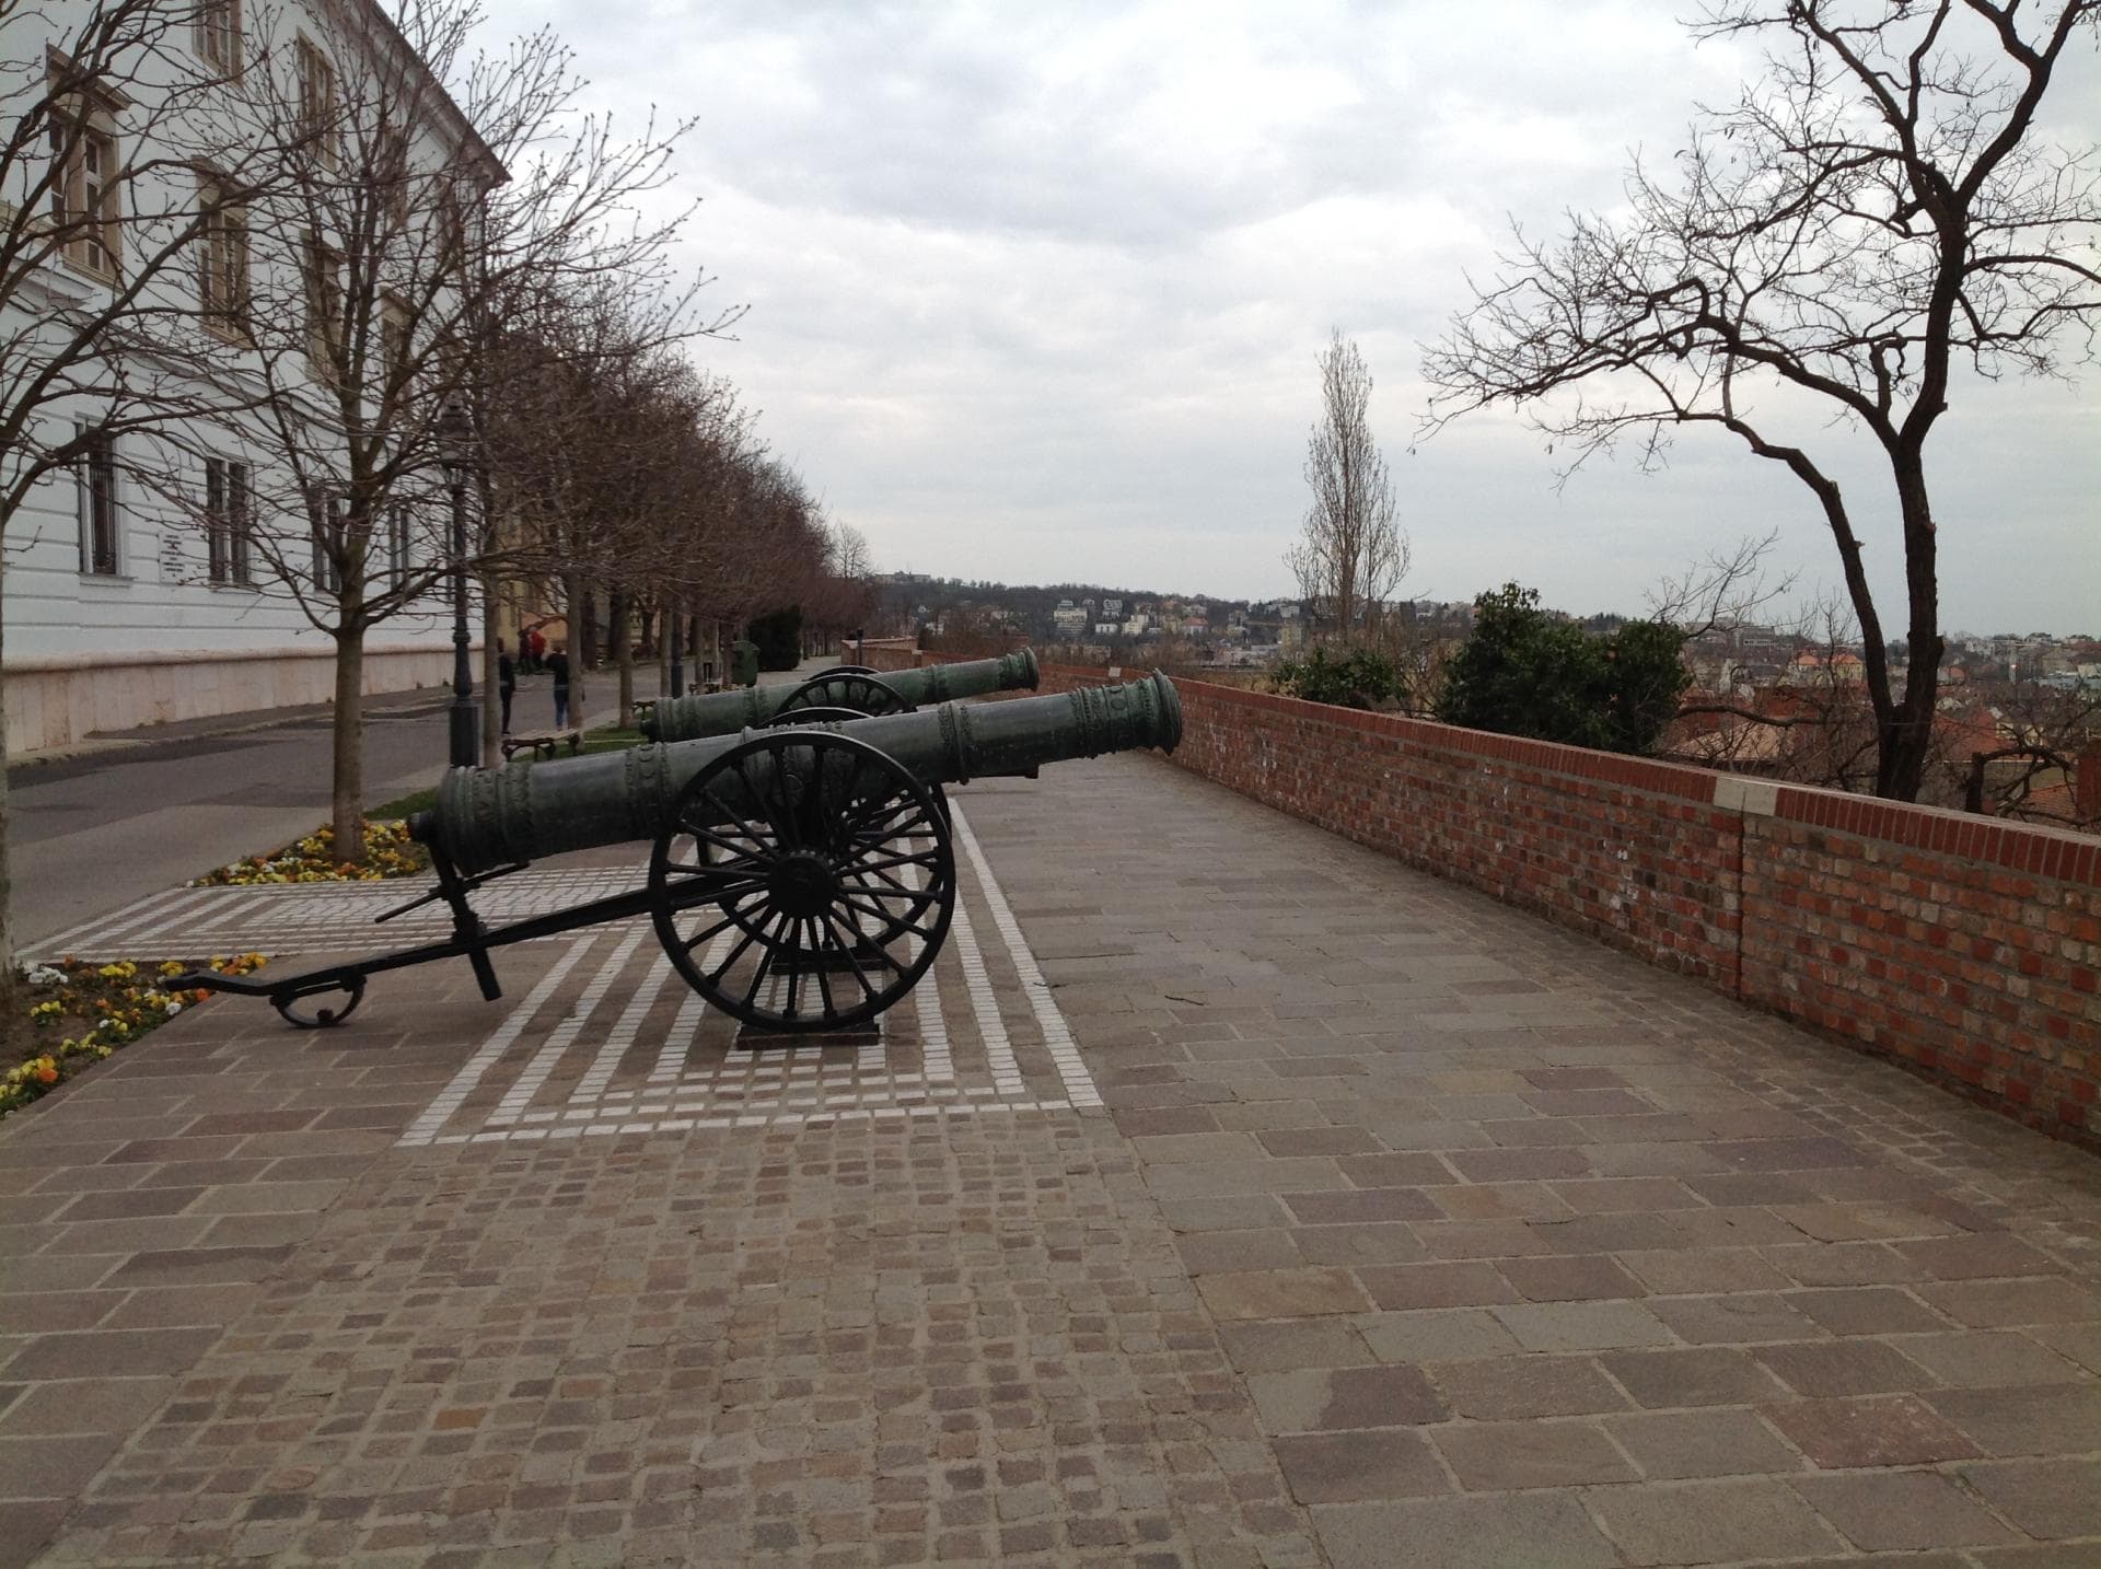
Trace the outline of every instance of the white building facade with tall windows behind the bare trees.
{"type": "MultiPolygon", "coordinates": [[[[101,11],[109,8],[111,0],[103,0],[101,11]]],[[[36,92],[38,61],[61,69],[95,13],[84,0],[8,8],[0,19],[0,113],[36,92]]],[[[17,286],[0,298],[0,355],[13,361],[0,363],[0,395],[13,395],[34,374],[38,344],[63,334],[67,317],[126,288],[132,269],[153,267],[166,235],[212,202],[214,181],[261,191],[271,179],[265,160],[334,168],[340,189],[330,200],[340,200],[342,212],[389,206],[399,212],[387,223],[422,223],[405,200],[357,200],[366,166],[357,149],[374,132],[351,124],[357,103],[345,82],[384,80],[389,103],[416,99],[412,120],[399,116],[401,128],[380,132],[401,143],[403,166],[450,170],[464,160],[481,168],[479,189],[502,179],[441,84],[368,0],[307,0],[269,13],[208,0],[181,15],[187,21],[160,40],[158,74],[147,63],[122,88],[111,76],[107,92],[69,99],[92,130],[65,145],[53,134],[55,172],[34,162],[8,170],[17,189],[0,191],[0,218],[48,202],[55,218],[71,210],[105,223],[19,269],[17,286]],[[166,97],[155,101],[155,92],[166,97]],[[183,103],[179,113],[166,109],[174,99],[183,103]],[[315,141],[286,153],[258,151],[261,132],[275,124],[273,109],[294,128],[311,120],[315,141]],[[214,113],[223,113],[221,126],[214,113]],[[342,126],[330,124],[336,116],[342,126]],[[330,137],[336,141],[319,141],[330,137]],[[214,153],[214,141],[227,151],[214,153]],[[235,172],[221,172],[227,168],[235,172]]],[[[168,252],[141,296],[155,311],[151,332],[166,355],[137,355],[124,372],[132,391],[122,395],[97,391],[88,365],[74,378],[78,391],[36,412],[36,439],[46,445],[67,428],[111,433],[95,437],[69,468],[44,475],[6,529],[0,609],[11,754],[63,748],[95,731],[334,697],[336,639],[315,607],[326,611],[326,592],[342,567],[319,538],[326,504],[296,500],[328,496],[334,481],[326,462],[292,456],[300,441],[288,435],[326,420],[286,414],[309,393],[298,389],[296,351],[284,344],[305,334],[305,376],[319,410],[334,384],[328,378],[340,378],[347,363],[328,344],[347,349],[368,332],[347,313],[338,275],[355,242],[332,235],[319,218],[294,229],[294,208],[258,195],[193,223],[197,233],[179,256],[168,252]],[[151,397],[137,395],[147,380],[151,397]],[[244,399],[250,407],[233,407],[244,399]],[[179,414],[149,420],[147,405],[179,414]],[[300,548],[307,536],[311,550],[300,548]]],[[[433,252],[422,242],[395,250],[403,277],[416,254],[433,252]]],[[[401,298],[412,290],[403,281],[401,298]]],[[[384,311],[393,311],[393,298],[389,292],[380,300],[384,311]]],[[[405,307],[397,315],[405,321],[405,307]]],[[[405,357],[408,336],[410,328],[389,315],[370,328],[370,353],[378,357],[384,347],[384,355],[405,357]],[[389,332],[399,332],[401,342],[389,332]]],[[[361,546],[372,573],[403,584],[401,603],[363,634],[366,693],[450,676],[450,605],[429,582],[433,567],[441,569],[433,550],[443,550],[443,534],[427,510],[418,506],[412,519],[405,504],[387,508],[384,538],[374,531],[361,546]],[[422,573],[412,597],[410,573],[422,573]]]]}

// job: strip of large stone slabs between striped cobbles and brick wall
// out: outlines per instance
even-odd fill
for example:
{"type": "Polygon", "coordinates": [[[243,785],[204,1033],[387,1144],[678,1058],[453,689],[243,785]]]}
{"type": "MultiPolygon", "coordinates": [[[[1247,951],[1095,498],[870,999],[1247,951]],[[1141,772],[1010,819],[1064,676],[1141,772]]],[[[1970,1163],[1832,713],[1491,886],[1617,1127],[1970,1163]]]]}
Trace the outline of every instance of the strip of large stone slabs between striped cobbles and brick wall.
{"type": "Polygon", "coordinates": [[[2101,1565],[2093,1157],[1168,765],[1059,786],[983,840],[1332,1563],[2101,1565]]]}

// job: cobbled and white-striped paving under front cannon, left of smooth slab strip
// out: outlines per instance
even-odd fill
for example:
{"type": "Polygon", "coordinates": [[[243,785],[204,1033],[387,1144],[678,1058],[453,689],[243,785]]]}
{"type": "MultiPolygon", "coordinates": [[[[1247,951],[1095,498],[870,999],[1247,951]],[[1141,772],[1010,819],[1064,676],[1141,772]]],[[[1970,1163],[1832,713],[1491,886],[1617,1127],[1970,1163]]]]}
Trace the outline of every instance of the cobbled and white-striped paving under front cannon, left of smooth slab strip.
{"type": "Polygon", "coordinates": [[[635,922],[500,1006],[214,1002],[13,1120],[0,1558],[1317,1563],[956,821],[880,1033],[754,1046],[635,922]]]}

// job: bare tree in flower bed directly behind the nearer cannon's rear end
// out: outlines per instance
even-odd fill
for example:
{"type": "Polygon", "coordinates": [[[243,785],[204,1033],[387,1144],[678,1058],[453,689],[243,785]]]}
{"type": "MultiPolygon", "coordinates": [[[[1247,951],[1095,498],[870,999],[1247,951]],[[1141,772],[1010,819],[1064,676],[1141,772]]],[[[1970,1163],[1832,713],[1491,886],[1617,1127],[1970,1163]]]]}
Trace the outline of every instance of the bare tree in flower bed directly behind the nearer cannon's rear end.
{"type": "MultiPolygon", "coordinates": [[[[309,19],[240,99],[288,153],[244,214],[252,248],[225,382],[261,391],[242,435],[254,550],[334,643],[336,853],[361,855],[363,657],[374,626],[439,615],[456,571],[513,548],[487,508],[450,538],[439,410],[515,391],[481,353],[494,321],[582,279],[647,292],[683,212],[643,221],[668,130],[618,139],[576,116],[580,82],[548,32],[475,53],[477,0],[309,19]],[[448,90],[450,88],[450,90],[448,90]]],[[[521,372],[504,363],[506,372],[521,372]]],[[[179,485],[179,481],[176,481],[179,485]]],[[[174,487],[174,485],[170,485],[174,487]]]]}

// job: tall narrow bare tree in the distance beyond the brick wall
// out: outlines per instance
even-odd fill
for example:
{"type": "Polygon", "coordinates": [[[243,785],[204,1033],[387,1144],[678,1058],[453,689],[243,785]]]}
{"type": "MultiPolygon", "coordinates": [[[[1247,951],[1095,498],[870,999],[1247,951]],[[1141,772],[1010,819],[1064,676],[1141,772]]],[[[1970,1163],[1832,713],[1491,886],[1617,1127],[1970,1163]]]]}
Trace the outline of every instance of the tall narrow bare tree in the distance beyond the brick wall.
{"type": "Polygon", "coordinates": [[[1313,502],[1298,544],[1284,552],[1298,592],[1334,618],[1343,641],[1361,611],[1374,611],[1408,576],[1393,479],[1372,433],[1372,372],[1357,342],[1334,332],[1319,357],[1322,418],[1307,439],[1313,502]]]}

